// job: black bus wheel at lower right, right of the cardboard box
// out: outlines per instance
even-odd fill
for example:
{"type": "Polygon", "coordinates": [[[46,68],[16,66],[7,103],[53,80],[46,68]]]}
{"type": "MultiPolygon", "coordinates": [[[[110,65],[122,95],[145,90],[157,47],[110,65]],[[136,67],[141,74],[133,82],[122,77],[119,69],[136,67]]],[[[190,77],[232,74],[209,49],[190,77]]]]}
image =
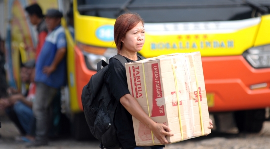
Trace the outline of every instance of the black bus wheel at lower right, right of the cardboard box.
{"type": "Polygon", "coordinates": [[[234,115],[239,132],[258,133],[265,121],[265,109],[236,111],[234,115]]]}

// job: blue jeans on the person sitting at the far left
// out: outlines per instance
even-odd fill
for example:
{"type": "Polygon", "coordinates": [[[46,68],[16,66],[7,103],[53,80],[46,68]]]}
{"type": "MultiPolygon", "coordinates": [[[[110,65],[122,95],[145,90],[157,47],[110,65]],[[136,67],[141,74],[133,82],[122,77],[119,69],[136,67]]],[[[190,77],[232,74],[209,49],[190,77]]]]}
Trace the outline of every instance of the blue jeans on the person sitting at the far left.
{"type": "Polygon", "coordinates": [[[14,105],[14,111],[17,114],[20,125],[23,127],[26,134],[30,134],[31,122],[34,120],[33,110],[21,101],[18,101],[14,105]]]}

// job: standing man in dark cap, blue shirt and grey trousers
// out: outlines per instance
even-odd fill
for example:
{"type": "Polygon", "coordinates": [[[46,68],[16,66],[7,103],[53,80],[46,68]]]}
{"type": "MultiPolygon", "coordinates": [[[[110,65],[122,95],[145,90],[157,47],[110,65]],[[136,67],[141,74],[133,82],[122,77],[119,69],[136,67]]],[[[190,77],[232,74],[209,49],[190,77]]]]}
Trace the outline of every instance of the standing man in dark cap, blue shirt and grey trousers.
{"type": "Polygon", "coordinates": [[[66,39],[61,24],[62,13],[49,9],[45,15],[48,35],[35,67],[36,99],[33,112],[36,118],[36,140],[27,147],[48,144],[50,107],[56,92],[66,83],[66,39]]]}

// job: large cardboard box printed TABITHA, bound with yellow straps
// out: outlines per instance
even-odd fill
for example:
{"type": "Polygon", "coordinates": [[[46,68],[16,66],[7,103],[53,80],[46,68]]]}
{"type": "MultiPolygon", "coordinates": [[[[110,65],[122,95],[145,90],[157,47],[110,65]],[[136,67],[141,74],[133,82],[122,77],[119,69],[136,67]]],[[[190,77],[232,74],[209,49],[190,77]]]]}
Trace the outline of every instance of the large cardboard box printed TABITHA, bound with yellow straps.
{"type": "MultiPolygon", "coordinates": [[[[162,55],[125,67],[131,95],[152,120],[172,129],[174,136],[166,136],[170,143],[211,133],[199,52],[162,55]]],[[[134,117],[133,125],[137,146],[160,144],[134,117]]]]}

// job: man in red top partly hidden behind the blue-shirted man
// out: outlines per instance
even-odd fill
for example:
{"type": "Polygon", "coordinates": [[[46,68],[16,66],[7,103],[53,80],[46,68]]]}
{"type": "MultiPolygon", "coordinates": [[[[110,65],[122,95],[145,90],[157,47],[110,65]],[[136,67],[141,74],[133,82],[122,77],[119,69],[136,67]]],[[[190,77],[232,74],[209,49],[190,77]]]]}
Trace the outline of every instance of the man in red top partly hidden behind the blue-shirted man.
{"type": "MultiPolygon", "coordinates": [[[[25,11],[29,14],[31,24],[36,25],[36,30],[38,32],[38,43],[35,50],[35,60],[37,60],[40,50],[45,42],[45,38],[48,34],[47,26],[44,20],[42,9],[38,4],[35,3],[26,7],[25,11]]],[[[28,50],[29,48],[30,47],[28,47],[28,50]]]]}

